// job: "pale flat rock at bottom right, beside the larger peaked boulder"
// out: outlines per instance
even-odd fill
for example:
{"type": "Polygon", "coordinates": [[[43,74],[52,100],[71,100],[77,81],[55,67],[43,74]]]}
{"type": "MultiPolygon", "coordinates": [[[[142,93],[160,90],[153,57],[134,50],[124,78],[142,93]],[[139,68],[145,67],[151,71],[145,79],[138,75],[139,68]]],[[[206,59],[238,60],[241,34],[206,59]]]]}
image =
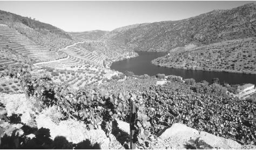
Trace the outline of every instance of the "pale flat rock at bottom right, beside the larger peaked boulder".
{"type": "Polygon", "coordinates": [[[199,140],[203,140],[212,147],[220,147],[224,149],[241,149],[241,145],[234,140],[217,137],[204,131],[200,132],[199,140]]]}

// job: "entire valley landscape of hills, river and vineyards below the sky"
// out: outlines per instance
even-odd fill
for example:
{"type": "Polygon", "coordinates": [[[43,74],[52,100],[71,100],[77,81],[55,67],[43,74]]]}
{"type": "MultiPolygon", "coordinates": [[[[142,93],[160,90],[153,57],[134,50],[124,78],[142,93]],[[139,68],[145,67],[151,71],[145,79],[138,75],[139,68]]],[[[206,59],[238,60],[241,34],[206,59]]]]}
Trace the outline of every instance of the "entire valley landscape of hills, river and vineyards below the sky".
{"type": "Polygon", "coordinates": [[[66,32],[0,10],[0,149],[255,148],[255,18],[66,32]]]}

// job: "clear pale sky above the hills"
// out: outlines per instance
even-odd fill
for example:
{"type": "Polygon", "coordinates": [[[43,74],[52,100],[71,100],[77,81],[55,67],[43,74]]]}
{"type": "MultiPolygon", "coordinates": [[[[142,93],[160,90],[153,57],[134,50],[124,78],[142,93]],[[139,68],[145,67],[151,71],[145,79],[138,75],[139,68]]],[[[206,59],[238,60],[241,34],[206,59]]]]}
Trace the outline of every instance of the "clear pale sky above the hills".
{"type": "Polygon", "coordinates": [[[113,30],[175,21],[255,1],[0,1],[0,10],[36,18],[65,31],[113,30]]]}

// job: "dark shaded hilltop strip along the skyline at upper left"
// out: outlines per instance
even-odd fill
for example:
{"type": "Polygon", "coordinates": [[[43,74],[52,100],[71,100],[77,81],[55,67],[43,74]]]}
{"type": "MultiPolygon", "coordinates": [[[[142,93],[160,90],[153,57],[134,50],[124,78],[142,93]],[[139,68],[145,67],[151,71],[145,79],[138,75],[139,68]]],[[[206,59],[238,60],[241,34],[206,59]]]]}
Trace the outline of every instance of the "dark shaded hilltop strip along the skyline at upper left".
{"type": "Polygon", "coordinates": [[[49,31],[50,33],[54,33],[59,37],[71,39],[71,36],[68,33],[63,31],[62,29],[57,28],[56,26],[42,23],[29,17],[19,16],[11,12],[0,10],[0,22],[18,22],[29,26],[32,29],[49,31]]]}

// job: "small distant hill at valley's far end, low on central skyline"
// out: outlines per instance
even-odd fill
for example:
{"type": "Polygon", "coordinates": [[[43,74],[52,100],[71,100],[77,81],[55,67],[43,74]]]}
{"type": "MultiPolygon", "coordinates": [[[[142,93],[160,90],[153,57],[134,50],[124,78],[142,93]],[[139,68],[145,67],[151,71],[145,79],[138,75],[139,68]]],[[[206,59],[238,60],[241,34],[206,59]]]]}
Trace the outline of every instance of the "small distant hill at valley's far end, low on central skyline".
{"type": "Polygon", "coordinates": [[[75,36],[77,38],[97,40],[103,35],[105,35],[109,31],[102,30],[93,30],[93,31],[84,31],[84,32],[69,32],[70,35],[75,36]]]}

